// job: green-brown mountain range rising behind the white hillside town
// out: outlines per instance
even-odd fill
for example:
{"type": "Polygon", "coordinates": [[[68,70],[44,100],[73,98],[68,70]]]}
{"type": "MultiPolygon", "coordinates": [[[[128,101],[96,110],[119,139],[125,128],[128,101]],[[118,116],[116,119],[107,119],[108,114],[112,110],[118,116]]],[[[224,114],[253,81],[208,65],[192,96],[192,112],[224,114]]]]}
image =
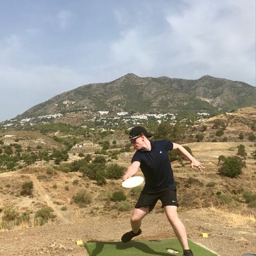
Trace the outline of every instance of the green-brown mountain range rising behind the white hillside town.
{"type": "Polygon", "coordinates": [[[256,87],[241,81],[209,75],[191,80],[128,73],[110,82],[85,84],[55,95],[15,119],[78,111],[214,113],[251,105],[256,105],[256,87]]]}

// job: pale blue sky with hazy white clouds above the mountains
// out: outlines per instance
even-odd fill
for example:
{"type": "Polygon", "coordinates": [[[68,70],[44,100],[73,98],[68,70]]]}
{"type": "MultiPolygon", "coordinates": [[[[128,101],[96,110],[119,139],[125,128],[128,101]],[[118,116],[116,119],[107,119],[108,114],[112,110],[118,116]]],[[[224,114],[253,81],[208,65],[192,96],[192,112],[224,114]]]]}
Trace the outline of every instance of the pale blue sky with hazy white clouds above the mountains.
{"type": "Polygon", "coordinates": [[[255,0],[0,0],[0,121],[127,73],[255,86],[255,0]]]}

